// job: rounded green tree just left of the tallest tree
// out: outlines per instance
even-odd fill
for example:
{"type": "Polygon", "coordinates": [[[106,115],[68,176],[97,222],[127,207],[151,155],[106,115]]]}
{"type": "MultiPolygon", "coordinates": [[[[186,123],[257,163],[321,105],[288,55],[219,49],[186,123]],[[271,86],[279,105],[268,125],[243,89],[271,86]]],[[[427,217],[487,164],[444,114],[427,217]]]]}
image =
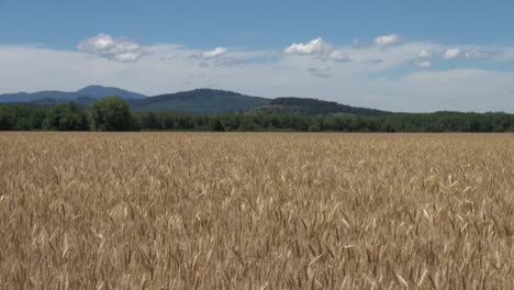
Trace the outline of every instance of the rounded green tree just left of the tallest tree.
{"type": "Polygon", "coordinates": [[[64,103],[53,107],[43,120],[44,130],[53,131],[87,131],[87,114],[75,103],[64,103]]]}

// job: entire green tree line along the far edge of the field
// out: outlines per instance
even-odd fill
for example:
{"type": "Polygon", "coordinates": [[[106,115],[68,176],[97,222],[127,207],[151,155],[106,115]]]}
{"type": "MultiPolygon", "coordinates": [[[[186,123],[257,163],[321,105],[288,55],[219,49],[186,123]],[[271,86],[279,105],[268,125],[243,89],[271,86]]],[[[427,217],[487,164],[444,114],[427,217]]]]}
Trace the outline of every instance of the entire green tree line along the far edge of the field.
{"type": "Polygon", "coordinates": [[[134,113],[118,97],[89,108],[0,105],[0,131],[215,131],[215,132],[513,132],[514,114],[402,113],[382,116],[332,114],[134,113]]]}

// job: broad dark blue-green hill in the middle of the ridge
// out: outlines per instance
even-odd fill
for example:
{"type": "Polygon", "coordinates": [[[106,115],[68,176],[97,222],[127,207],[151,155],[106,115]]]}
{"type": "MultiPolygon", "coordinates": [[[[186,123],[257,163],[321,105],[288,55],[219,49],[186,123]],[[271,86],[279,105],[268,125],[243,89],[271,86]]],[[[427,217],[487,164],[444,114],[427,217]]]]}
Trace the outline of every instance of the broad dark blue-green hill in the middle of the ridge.
{"type": "Polygon", "coordinates": [[[250,97],[237,92],[213,89],[197,89],[161,94],[131,101],[131,108],[138,112],[185,112],[215,114],[243,112],[270,103],[270,99],[250,97]]]}

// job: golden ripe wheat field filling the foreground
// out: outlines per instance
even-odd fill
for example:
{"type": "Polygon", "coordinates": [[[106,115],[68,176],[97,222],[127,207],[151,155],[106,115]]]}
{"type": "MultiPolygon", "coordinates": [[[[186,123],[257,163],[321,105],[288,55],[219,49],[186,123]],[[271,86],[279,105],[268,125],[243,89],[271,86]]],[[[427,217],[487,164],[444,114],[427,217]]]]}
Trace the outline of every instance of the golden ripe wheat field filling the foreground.
{"type": "Polygon", "coordinates": [[[1,133],[0,289],[514,289],[514,135],[1,133]]]}

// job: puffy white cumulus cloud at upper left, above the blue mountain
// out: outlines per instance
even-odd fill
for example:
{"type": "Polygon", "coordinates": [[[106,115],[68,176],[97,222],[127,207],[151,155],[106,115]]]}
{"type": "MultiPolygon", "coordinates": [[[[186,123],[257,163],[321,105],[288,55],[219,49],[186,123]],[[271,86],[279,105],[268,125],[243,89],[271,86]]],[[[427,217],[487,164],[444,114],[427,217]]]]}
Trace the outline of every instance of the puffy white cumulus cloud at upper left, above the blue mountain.
{"type": "Polygon", "coordinates": [[[145,55],[144,47],[136,42],[113,38],[103,33],[81,41],[77,48],[119,63],[136,62],[145,55]]]}

